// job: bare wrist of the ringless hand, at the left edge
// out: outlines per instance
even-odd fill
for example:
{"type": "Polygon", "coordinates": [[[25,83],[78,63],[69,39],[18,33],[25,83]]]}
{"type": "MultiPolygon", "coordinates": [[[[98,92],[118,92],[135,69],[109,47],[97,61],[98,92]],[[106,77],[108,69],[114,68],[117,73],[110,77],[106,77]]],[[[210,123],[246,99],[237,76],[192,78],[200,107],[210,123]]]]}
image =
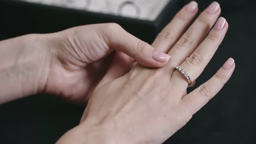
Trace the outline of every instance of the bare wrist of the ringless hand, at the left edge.
{"type": "Polygon", "coordinates": [[[0,103],[42,91],[49,71],[44,39],[30,34],[0,42],[0,103]]]}

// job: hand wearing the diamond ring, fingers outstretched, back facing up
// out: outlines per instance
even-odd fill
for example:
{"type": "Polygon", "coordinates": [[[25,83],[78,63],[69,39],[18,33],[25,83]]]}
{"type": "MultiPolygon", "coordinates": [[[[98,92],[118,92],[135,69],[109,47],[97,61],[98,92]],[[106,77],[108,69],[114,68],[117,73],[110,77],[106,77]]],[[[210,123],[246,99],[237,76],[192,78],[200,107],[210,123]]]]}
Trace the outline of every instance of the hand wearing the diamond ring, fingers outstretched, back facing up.
{"type": "Polygon", "coordinates": [[[59,144],[72,139],[91,144],[161,144],[182,128],[220,91],[235,69],[230,58],[210,80],[187,94],[188,82],[174,65],[181,65],[192,80],[197,79],[228,29],[220,17],[207,36],[220,15],[219,4],[213,2],[184,33],[196,13],[197,3],[186,5],[152,44],[172,56],[164,67],[135,65],[115,79],[109,78],[110,67],[92,93],[81,124],[67,132],[59,144]]]}

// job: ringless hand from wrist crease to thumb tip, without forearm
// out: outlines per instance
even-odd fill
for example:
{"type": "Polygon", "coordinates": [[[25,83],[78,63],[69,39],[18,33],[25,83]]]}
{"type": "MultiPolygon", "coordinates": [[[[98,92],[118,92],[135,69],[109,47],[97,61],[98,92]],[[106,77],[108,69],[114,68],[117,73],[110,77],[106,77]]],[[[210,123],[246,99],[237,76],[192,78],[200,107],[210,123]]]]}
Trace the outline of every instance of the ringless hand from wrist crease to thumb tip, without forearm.
{"type": "Polygon", "coordinates": [[[79,26],[45,37],[50,42],[51,61],[44,92],[76,103],[88,100],[114,58],[114,54],[108,56],[113,49],[117,51],[112,75],[126,73],[133,62],[131,57],[148,67],[161,67],[170,58],[115,23],[79,26]]]}

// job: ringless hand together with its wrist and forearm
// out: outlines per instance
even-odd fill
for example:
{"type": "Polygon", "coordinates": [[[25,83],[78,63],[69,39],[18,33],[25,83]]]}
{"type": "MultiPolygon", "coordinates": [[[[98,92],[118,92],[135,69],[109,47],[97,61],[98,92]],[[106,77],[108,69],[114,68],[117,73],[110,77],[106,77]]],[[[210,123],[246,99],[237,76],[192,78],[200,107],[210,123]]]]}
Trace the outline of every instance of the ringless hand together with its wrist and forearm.
{"type": "Polygon", "coordinates": [[[134,60],[148,67],[166,65],[170,56],[161,52],[168,57],[157,61],[154,52],[115,23],[4,40],[0,42],[0,103],[45,92],[85,105],[114,58],[120,66],[115,73],[127,72],[134,60]]]}

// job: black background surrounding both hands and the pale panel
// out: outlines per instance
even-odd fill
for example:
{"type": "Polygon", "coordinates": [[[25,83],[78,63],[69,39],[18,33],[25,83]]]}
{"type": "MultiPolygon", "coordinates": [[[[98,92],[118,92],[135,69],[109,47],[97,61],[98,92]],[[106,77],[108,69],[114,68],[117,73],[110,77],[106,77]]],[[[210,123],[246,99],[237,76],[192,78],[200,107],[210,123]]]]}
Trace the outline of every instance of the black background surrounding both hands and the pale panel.
{"type": "MultiPolygon", "coordinates": [[[[187,2],[173,0],[155,22],[148,22],[0,0],[0,39],[56,32],[89,23],[116,22],[151,43],[187,2]]],[[[236,69],[216,97],[165,144],[256,144],[256,3],[253,0],[218,2],[221,16],[230,27],[195,87],[217,72],[229,57],[235,59],[236,69]]],[[[197,3],[202,11],[211,0],[197,0],[197,3]]],[[[50,95],[30,96],[0,105],[0,144],[52,144],[79,123],[83,110],[50,95]]]]}

